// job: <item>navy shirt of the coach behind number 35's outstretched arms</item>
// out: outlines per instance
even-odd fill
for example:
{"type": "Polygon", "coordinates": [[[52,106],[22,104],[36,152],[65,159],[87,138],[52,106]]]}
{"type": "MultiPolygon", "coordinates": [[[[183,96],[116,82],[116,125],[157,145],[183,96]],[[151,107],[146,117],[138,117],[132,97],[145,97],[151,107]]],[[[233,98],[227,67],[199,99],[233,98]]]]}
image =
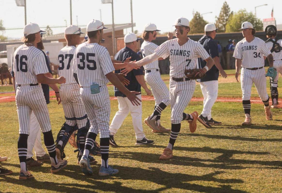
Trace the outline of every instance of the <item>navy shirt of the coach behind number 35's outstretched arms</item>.
{"type": "MultiPolygon", "coordinates": [[[[139,55],[131,50],[130,48],[124,47],[122,48],[120,51],[118,51],[118,53],[116,53],[116,55],[114,56],[115,60],[118,61],[124,61],[127,58],[131,57],[131,61],[138,61],[141,60],[141,58],[139,57],[139,55]]],[[[122,69],[120,70],[115,70],[114,73],[120,73],[122,69]]],[[[143,75],[143,69],[133,69],[132,71],[130,71],[127,75],[126,75],[126,79],[129,80],[129,84],[125,87],[130,90],[130,91],[137,91],[137,92],[141,92],[141,85],[138,83],[138,81],[136,80],[137,75],[143,75]]],[[[122,92],[120,92],[116,87],[114,87],[114,96],[122,96],[122,97],[126,97],[122,92]]]]}

